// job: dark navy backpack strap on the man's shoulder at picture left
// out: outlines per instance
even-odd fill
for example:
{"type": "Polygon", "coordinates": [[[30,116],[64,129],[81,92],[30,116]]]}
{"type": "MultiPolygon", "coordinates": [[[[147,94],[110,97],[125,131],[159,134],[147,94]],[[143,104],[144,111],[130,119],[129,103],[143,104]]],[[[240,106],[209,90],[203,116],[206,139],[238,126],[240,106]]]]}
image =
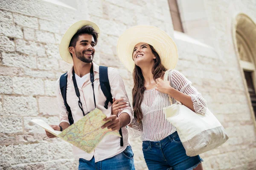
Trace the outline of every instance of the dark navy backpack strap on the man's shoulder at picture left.
{"type": "Polygon", "coordinates": [[[64,101],[64,105],[68,111],[68,120],[70,122],[70,125],[74,123],[72,113],[70,110],[69,105],[67,104],[67,73],[62,74],[60,78],[60,89],[61,89],[61,95],[64,101]]]}

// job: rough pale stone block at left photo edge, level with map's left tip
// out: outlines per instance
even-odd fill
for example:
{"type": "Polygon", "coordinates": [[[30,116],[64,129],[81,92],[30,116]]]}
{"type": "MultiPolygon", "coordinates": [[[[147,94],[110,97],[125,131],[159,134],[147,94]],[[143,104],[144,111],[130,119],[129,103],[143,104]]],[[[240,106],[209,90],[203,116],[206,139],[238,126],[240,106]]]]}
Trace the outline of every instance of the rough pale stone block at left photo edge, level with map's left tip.
{"type": "Polygon", "coordinates": [[[22,133],[22,118],[2,117],[0,121],[0,133],[22,133]]]}

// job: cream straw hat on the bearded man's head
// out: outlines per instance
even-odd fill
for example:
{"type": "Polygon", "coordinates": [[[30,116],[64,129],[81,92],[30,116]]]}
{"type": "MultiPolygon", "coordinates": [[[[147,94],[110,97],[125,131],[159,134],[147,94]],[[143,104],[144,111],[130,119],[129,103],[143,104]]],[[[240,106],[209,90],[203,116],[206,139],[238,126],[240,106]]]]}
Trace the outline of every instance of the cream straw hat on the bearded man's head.
{"type": "Polygon", "coordinates": [[[91,21],[88,20],[80,20],[77,21],[76,23],[74,23],[72,26],[70,26],[70,28],[67,29],[66,33],[64,34],[64,36],[61,39],[61,44],[59,47],[59,51],[60,51],[60,55],[61,58],[68,63],[73,63],[73,59],[72,56],[70,55],[69,52],[69,45],[70,45],[70,40],[72,39],[72,37],[76,34],[76,32],[82,28],[83,26],[92,26],[93,29],[98,33],[98,38],[99,38],[99,27],[96,25],[96,23],[93,23],[91,21]]]}

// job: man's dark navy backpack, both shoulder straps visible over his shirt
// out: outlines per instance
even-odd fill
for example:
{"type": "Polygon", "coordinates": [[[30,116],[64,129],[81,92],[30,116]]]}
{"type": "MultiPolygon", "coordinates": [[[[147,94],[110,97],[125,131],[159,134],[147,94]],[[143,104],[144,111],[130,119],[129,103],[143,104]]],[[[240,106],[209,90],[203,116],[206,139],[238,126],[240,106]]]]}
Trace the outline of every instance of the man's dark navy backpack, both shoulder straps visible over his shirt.
{"type": "MultiPolygon", "coordinates": [[[[67,73],[62,74],[60,77],[60,89],[61,89],[61,95],[64,100],[64,105],[68,111],[68,120],[70,122],[70,125],[74,123],[73,116],[70,110],[69,105],[67,104],[67,73]]],[[[111,88],[108,80],[108,67],[105,66],[99,66],[99,84],[100,88],[104,94],[104,96],[107,98],[104,103],[104,108],[108,109],[108,103],[113,103],[112,100],[112,94],[111,94],[111,88]]],[[[122,129],[119,130],[120,135],[122,136],[122,129]]],[[[123,139],[121,137],[120,139],[120,146],[123,146],[123,139]]]]}

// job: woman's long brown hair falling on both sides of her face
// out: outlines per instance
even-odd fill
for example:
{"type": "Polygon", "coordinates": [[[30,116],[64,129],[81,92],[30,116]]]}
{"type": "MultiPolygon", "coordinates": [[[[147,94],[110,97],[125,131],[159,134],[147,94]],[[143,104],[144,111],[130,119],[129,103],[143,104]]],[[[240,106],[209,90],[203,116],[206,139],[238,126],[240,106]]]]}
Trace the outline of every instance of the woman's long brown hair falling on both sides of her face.
{"type": "MultiPolygon", "coordinates": [[[[167,70],[161,63],[160,56],[157,54],[157,51],[154,49],[153,46],[149,45],[151,48],[152,53],[156,57],[155,63],[152,67],[152,74],[154,75],[153,78],[156,80],[157,78],[163,78],[165,71],[167,70]]],[[[144,97],[144,77],[142,71],[139,66],[135,65],[133,71],[133,79],[134,79],[134,88],[132,89],[132,105],[134,109],[134,118],[137,119],[137,122],[140,122],[143,118],[143,113],[141,111],[141,103],[144,97]]]]}

